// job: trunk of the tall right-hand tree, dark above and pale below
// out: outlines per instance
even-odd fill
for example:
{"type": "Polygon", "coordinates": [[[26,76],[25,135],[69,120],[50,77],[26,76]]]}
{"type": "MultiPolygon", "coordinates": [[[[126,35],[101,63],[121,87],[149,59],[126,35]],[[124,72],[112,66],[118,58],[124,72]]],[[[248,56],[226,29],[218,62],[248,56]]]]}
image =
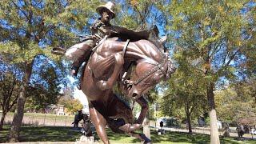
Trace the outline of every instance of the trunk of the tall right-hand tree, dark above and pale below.
{"type": "Polygon", "coordinates": [[[210,106],[210,143],[219,144],[220,142],[218,138],[217,114],[214,102],[214,82],[209,82],[207,84],[207,98],[210,106]]]}

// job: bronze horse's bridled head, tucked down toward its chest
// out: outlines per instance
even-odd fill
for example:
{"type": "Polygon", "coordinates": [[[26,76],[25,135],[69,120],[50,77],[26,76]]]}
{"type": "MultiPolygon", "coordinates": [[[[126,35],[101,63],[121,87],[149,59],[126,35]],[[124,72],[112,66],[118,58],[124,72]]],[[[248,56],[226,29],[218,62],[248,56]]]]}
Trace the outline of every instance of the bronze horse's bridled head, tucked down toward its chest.
{"type": "Polygon", "coordinates": [[[142,94],[146,94],[161,80],[166,81],[170,78],[176,68],[172,62],[166,57],[158,65],[147,62],[138,62],[135,70],[131,74],[131,82],[133,85],[128,90],[128,96],[139,98],[142,94]]]}

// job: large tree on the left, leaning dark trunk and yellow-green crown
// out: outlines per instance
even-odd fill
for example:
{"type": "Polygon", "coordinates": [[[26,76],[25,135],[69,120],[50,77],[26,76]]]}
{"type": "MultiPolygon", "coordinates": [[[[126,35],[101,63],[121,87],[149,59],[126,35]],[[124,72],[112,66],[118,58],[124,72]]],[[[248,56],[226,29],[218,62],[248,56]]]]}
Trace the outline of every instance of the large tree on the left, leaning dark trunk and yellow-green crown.
{"type": "MultiPolygon", "coordinates": [[[[10,142],[18,142],[26,92],[34,60],[50,54],[50,46],[71,46],[74,31],[86,30],[98,2],[3,0],[0,4],[1,56],[12,54],[23,71],[17,110],[10,129],[10,142]]],[[[3,59],[4,60],[4,59],[3,59]]]]}

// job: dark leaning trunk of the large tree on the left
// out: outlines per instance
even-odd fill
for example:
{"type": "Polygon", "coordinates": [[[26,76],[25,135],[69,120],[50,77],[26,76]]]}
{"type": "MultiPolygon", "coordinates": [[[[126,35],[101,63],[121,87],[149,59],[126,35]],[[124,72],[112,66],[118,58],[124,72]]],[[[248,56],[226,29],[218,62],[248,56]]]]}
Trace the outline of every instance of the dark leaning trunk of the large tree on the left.
{"type": "Polygon", "coordinates": [[[33,66],[33,62],[29,64],[26,63],[25,75],[22,78],[22,86],[21,86],[22,90],[17,100],[17,109],[15,110],[14,119],[10,128],[9,142],[18,142],[19,132],[22,126],[22,119],[24,115],[24,105],[26,102],[26,90],[29,86],[30,76],[32,73],[32,66],[33,66]]]}

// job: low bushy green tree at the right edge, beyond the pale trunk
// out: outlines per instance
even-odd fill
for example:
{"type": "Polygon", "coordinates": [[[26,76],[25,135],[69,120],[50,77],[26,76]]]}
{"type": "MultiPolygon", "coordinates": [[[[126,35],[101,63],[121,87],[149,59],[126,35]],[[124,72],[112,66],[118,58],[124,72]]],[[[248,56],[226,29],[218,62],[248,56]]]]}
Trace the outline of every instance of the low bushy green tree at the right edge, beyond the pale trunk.
{"type": "Polygon", "coordinates": [[[253,118],[256,115],[256,107],[248,84],[250,83],[236,82],[230,84],[226,89],[216,92],[218,118],[230,123],[240,123],[252,119],[246,124],[254,126],[253,118]],[[226,113],[227,111],[228,113],[226,113]]]}

